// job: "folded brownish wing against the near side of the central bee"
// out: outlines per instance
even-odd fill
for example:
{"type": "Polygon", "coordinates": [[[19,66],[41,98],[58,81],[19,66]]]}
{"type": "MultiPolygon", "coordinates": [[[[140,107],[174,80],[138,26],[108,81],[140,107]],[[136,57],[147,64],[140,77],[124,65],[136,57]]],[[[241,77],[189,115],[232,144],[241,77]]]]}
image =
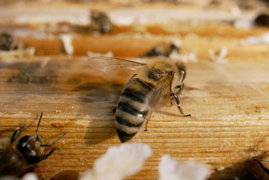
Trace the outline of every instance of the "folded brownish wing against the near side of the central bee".
{"type": "Polygon", "coordinates": [[[171,96],[172,79],[173,76],[167,74],[155,85],[155,87],[147,95],[147,99],[152,110],[168,102],[171,96]]]}

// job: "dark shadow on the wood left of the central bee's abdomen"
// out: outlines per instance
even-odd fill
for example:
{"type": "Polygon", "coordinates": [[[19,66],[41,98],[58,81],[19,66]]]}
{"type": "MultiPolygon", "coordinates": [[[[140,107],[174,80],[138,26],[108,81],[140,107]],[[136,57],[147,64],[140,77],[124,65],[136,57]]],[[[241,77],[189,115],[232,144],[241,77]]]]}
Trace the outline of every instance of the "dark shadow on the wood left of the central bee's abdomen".
{"type": "Polygon", "coordinates": [[[117,107],[122,86],[122,84],[113,83],[84,83],[73,90],[78,92],[77,101],[81,105],[78,116],[80,114],[90,116],[85,135],[85,143],[88,146],[106,141],[106,139],[119,141],[113,109],[117,107]]]}

